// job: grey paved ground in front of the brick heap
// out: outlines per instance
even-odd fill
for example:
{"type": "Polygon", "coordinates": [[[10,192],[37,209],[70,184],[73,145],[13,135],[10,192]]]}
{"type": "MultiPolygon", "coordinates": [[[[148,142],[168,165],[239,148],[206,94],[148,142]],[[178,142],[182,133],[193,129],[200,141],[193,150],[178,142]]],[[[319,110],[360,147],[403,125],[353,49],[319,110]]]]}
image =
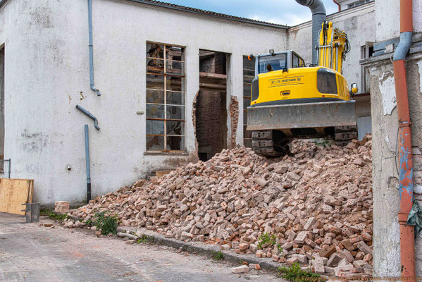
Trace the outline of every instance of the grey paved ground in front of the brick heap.
{"type": "Polygon", "coordinates": [[[266,271],[232,274],[232,264],[170,247],[24,222],[0,213],[0,281],[283,281],[266,271]]]}

